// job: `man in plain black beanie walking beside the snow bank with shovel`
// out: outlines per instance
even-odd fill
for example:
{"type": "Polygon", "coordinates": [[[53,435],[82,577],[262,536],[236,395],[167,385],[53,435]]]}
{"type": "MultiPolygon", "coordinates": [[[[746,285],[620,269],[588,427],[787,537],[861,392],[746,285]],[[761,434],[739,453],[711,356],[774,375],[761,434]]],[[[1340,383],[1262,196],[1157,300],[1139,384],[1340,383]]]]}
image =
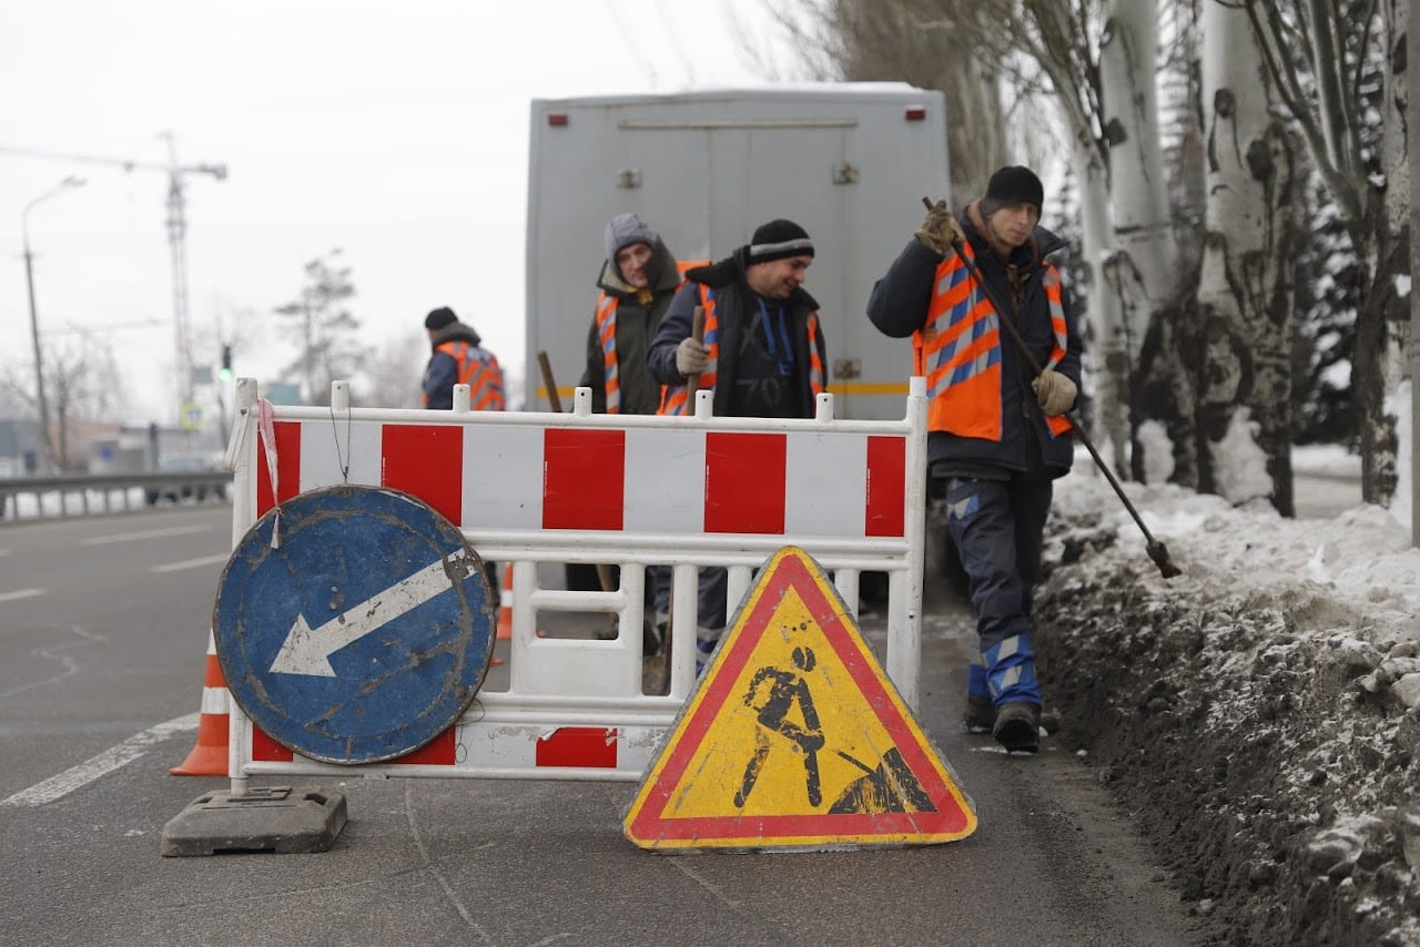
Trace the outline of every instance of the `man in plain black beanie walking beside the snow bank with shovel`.
{"type": "Polygon", "coordinates": [[[958,216],[937,202],[868,301],[883,334],[912,336],[927,378],[929,474],[946,491],[980,637],[966,726],[1025,752],[1039,748],[1041,717],[1031,592],[1052,480],[1074,460],[1065,413],[1081,359],[1069,298],[1045,260],[1064,241],[1038,226],[1042,199],[1039,177],[1011,166],[958,216]]]}

